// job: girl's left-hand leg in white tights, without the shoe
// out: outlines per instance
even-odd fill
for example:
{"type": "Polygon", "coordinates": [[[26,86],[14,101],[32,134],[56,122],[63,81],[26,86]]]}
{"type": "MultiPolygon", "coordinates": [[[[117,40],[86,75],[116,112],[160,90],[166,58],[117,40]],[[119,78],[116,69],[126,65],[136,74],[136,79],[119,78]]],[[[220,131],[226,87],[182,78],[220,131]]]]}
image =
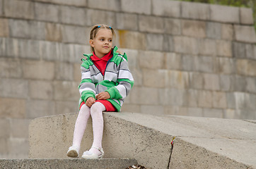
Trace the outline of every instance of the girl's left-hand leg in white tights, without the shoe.
{"type": "Polygon", "coordinates": [[[83,138],[83,133],[86,130],[86,125],[88,118],[90,117],[90,108],[86,106],[86,104],[83,104],[81,107],[78,117],[76,118],[76,125],[74,129],[74,138],[73,138],[73,145],[80,149],[81,141],[83,138]]]}

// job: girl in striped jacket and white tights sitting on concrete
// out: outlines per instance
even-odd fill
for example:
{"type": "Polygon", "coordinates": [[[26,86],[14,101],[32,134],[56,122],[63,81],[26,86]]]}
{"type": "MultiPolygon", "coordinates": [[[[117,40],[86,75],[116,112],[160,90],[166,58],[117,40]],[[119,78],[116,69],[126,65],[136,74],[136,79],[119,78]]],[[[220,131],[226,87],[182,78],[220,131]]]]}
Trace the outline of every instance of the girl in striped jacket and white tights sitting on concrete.
{"type": "Polygon", "coordinates": [[[93,120],[93,145],[83,152],[82,158],[102,158],[103,111],[120,111],[124,98],[132,89],[134,79],[129,71],[127,55],[112,48],[115,35],[110,26],[95,25],[90,34],[93,54],[83,54],[81,83],[79,84],[80,110],[76,119],[73,144],[67,156],[78,157],[83,133],[89,116],[93,120]]]}

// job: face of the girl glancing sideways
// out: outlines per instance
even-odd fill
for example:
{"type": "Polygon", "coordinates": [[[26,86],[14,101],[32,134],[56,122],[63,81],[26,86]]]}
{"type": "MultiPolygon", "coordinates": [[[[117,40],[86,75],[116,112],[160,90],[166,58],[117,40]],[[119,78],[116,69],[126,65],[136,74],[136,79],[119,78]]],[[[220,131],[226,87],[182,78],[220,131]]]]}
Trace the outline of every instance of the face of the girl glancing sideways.
{"type": "Polygon", "coordinates": [[[98,30],[96,36],[90,39],[90,44],[94,48],[95,55],[98,58],[103,58],[105,54],[110,52],[112,49],[112,31],[109,29],[98,30]]]}

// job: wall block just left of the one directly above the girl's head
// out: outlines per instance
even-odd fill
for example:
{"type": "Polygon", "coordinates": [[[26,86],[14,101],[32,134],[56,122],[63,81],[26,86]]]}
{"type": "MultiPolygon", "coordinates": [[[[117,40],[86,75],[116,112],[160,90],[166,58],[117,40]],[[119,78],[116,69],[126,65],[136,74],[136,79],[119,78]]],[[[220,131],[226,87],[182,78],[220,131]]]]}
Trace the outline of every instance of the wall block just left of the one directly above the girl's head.
{"type": "Polygon", "coordinates": [[[59,21],[61,23],[72,25],[86,25],[86,10],[85,8],[77,8],[74,6],[60,6],[59,21]]]}

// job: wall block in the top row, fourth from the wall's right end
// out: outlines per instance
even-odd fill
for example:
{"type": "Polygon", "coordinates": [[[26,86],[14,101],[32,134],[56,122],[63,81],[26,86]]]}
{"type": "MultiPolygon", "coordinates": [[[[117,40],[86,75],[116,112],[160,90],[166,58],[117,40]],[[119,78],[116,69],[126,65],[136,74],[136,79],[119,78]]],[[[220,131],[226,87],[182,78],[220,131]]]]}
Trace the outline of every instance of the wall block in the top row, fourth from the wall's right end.
{"type": "Polygon", "coordinates": [[[152,14],[180,18],[180,1],[152,1],[152,14]]]}

